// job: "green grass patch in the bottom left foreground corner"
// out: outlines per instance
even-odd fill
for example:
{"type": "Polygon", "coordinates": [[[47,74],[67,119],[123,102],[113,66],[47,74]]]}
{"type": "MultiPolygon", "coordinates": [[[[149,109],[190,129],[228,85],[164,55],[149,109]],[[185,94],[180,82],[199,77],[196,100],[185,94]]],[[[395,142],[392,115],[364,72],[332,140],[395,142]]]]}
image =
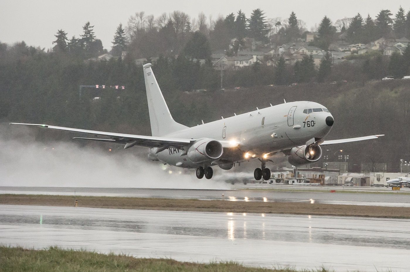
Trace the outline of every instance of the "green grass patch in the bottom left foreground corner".
{"type": "Polygon", "coordinates": [[[292,268],[250,268],[234,262],[188,263],[172,259],[134,258],[127,255],[99,254],[85,250],[63,250],[49,247],[44,250],[28,250],[22,247],[0,246],[0,271],[49,272],[49,271],[178,271],[178,272],[328,272],[319,270],[294,270],[292,268]]]}

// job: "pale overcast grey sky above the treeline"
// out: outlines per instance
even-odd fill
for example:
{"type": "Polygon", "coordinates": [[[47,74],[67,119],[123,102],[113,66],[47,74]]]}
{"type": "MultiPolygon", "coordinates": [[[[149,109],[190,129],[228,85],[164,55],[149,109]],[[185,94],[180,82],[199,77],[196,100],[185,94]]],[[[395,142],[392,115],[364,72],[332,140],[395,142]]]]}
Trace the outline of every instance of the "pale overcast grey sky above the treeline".
{"type": "Polygon", "coordinates": [[[319,25],[324,15],[333,22],[344,17],[353,17],[360,12],[363,17],[372,18],[381,9],[390,9],[393,14],[402,5],[407,12],[410,3],[404,0],[1,0],[0,41],[15,43],[24,40],[28,45],[50,48],[57,29],[63,29],[71,38],[82,33],[82,26],[90,21],[96,37],[101,39],[105,49],[110,49],[116,27],[120,22],[126,25],[128,18],[137,11],[145,11],[155,17],[163,12],[184,11],[191,17],[203,11],[215,19],[239,9],[248,17],[253,9],[261,8],[267,18],[287,18],[292,10],[298,19],[306,22],[307,29],[319,25]]]}

